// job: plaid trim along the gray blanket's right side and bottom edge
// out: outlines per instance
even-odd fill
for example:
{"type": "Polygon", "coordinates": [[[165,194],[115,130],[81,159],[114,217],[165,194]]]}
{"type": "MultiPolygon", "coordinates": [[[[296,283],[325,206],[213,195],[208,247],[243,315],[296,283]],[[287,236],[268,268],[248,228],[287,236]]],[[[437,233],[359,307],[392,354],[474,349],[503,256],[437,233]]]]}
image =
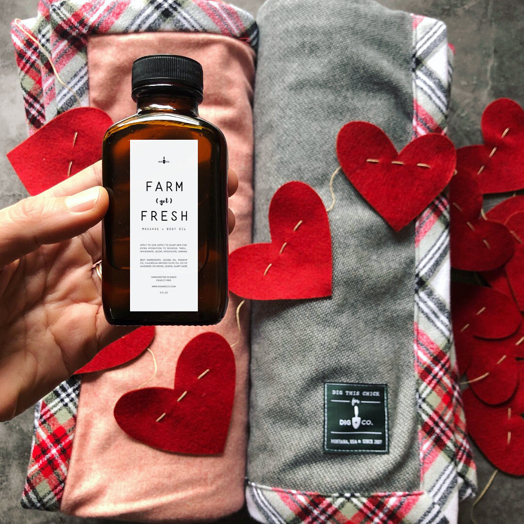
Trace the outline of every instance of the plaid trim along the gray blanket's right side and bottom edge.
{"type": "MultiPolygon", "coordinates": [[[[414,16],[413,138],[444,133],[451,85],[445,25],[414,16]]],[[[287,524],[447,524],[456,502],[476,488],[457,383],[450,315],[449,209],[445,195],[418,218],[414,363],[421,490],[416,493],[333,494],[299,492],[248,482],[250,514],[260,522],[287,524]]]]}

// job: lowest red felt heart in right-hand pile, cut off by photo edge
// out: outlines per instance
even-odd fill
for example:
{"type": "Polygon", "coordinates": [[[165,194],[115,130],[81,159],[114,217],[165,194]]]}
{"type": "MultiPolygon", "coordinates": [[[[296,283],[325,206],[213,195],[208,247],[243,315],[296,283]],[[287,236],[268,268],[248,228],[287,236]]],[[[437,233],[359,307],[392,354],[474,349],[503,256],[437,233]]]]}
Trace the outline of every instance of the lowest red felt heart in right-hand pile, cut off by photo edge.
{"type": "Polygon", "coordinates": [[[524,363],[518,363],[519,387],[499,406],[488,406],[471,388],[463,392],[468,432],[486,458],[510,475],[524,475],[524,363]]]}

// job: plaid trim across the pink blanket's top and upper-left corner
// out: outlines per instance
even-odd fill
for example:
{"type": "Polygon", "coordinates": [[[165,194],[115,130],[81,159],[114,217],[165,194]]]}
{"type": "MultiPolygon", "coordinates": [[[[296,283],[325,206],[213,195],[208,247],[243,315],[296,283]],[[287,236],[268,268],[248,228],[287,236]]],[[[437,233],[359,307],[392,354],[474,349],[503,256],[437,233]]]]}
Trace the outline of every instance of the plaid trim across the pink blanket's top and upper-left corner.
{"type": "Polygon", "coordinates": [[[200,31],[237,38],[255,50],[258,44],[254,18],[221,0],[41,0],[38,13],[23,25],[51,56],[69,89],[56,82],[45,55],[12,24],[30,134],[58,113],[89,104],[86,42],[90,35],[200,31]]]}

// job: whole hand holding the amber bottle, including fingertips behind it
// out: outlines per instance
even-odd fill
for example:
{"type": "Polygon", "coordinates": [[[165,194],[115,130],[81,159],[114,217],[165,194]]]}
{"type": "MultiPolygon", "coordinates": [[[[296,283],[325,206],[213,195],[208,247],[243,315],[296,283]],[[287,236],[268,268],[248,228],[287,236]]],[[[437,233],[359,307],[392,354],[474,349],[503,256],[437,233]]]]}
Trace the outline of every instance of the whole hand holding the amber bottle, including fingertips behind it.
{"type": "MultiPolygon", "coordinates": [[[[134,328],[102,310],[100,162],[0,210],[0,421],[42,398],[134,328]]],[[[228,193],[238,185],[228,172],[228,193]]],[[[230,233],[235,217],[228,210],[230,233]]]]}

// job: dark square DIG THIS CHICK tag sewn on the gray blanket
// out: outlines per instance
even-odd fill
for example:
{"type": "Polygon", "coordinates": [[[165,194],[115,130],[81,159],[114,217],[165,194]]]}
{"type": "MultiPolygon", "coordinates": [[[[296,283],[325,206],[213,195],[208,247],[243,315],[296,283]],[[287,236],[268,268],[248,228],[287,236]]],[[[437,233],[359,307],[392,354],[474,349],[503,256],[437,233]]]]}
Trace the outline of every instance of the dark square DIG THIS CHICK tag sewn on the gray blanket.
{"type": "Polygon", "coordinates": [[[324,384],[324,451],[389,453],[386,384],[324,384]]]}

